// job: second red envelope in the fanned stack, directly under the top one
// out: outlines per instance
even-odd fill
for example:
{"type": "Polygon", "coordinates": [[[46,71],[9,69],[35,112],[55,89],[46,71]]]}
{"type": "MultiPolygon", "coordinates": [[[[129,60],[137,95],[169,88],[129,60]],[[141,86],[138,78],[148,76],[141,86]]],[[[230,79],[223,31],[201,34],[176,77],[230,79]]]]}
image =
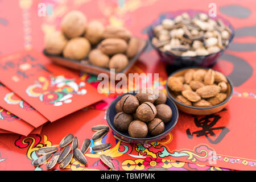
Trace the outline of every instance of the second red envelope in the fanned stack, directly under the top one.
{"type": "Polygon", "coordinates": [[[38,113],[38,111],[27,104],[27,102],[23,101],[1,83],[0,106],[34,127],[39,127],[48,121],[42,114],[38,113]]]}

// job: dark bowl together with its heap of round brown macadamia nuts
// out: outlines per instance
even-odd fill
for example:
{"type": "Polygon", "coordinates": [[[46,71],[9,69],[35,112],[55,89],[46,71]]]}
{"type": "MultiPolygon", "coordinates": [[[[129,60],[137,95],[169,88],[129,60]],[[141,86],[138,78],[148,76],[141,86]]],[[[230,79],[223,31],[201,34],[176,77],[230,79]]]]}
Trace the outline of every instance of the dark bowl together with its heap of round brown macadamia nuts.
{"type": "Polygon", "coordinates": [[[114,137],[128,143],[150,143],[166,137],[179,113],[161,90],[150,88],[125,93],[108,107],[106,119],[114,137]]]}

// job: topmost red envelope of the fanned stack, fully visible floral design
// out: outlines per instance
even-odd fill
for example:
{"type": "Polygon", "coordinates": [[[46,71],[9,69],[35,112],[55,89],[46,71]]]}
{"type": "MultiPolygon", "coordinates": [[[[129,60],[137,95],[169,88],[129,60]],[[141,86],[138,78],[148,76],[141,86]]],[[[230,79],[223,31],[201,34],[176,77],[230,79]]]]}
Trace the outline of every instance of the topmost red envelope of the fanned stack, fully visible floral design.
{"type": "Polygon", "coordinates": [[[0,81],[51,122],[105,98],[34,50],[1,57],[0,81]]]}

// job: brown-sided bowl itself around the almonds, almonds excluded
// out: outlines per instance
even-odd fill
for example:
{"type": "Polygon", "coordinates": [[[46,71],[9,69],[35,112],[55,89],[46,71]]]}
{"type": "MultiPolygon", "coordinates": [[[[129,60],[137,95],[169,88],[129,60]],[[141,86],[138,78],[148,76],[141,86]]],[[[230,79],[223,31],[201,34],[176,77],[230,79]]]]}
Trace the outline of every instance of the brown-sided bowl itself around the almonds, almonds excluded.
{"type": "MultiPolygon", "coordinates": [[[[172,73],[168,78],[172,77],[172,76],[184,76],[185,72],[187,72],[188,69],[206,69],[208,70],[209,68],[203,68],[203,67],[191,67],[191,68],[183,68],[183,69],[179,69],[178,71],[172,73]]],[[[224,107],[226,105],[228,105],[230,99],[232,98],[233,96],[233,84],[232,84],[232,81],[226,77],[226,79],[228,80],[228,91],[227,91],[227,94],[228,94],[228,97],[223,101],[221,102],[220,104],[217,104],[217,105],[214,105],[214,106],[211,106],[211,107],[194,107],[194,106],[188,106],[188,105],[185,105],[179,101],[177,101],[175,99],[176,95],[175,93],[170,90],[168,88],[168,85],[167,85],[167,82],[166,81],[166,92],[168,94],[168,96],[171,98],[172,101],[175,102],[176,106],[179,108],[179,110],[183,111],[184,113],[188,113],[188,114],[193,114],[193,115],[209,115],[209,114],[214,114],[214,113],[217,113],[218,111],[221,111],[222,109],[224,109],[224,107]]]]}

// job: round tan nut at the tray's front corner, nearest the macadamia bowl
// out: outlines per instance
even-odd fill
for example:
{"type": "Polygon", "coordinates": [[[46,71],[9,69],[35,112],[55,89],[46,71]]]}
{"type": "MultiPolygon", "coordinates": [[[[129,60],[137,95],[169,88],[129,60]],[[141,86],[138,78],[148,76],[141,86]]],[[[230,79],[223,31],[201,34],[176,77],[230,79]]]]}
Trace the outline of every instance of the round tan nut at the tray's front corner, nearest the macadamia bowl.
{"type": "Polygon", "coordinates": [[[121,72],[127,67],[129,61],[126,55],[118,53],[114,55],[109,61],[109,69],[115,69],[115,72],[121,72]]]}

